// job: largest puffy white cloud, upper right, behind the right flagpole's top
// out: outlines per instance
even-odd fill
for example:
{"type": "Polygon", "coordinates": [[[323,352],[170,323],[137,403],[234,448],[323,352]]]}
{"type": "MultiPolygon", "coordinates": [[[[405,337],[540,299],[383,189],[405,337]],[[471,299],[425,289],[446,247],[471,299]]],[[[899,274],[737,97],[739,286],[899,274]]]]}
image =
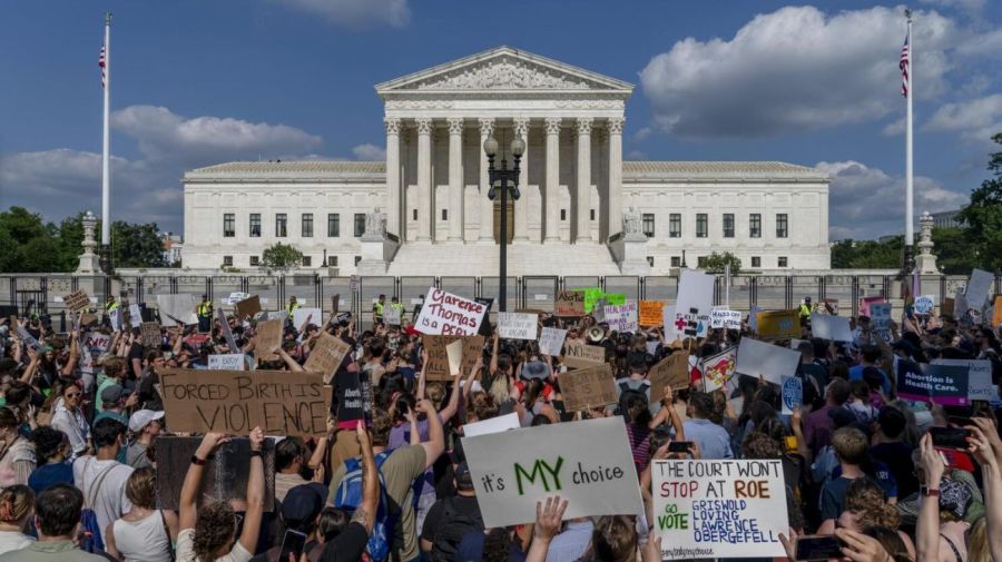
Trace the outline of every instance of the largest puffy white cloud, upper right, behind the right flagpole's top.
{"type": "MultiPolygon", "coordinates": [[[[954,22],[921,14],[918,96],[946,90],[954,22]]],[[[901,108],[901,9],[827,16],[787,7],[756,16],[731,39],[687,38],[640,72],[655,122],[687,137],[760,137],[883,118],[901,108]]]]}

